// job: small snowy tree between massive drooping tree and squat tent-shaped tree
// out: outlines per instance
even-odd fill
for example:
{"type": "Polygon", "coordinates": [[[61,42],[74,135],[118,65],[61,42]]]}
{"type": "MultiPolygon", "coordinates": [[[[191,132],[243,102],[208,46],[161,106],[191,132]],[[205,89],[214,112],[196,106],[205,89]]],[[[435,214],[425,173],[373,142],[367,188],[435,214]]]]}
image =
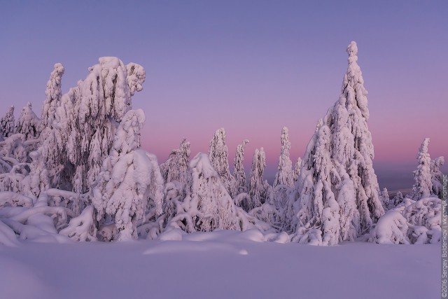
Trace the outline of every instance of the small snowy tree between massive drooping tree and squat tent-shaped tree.
{"type": "Polygon", "coordinates": [[[165,179],[167,183],[178,181],[185,186],[188,181],[189,161],[190,142],[184,138],[182,139],[179,148],[172,150],[168,160],[160,165],[160,172],[162,172],[163,179],[165,179]]]}

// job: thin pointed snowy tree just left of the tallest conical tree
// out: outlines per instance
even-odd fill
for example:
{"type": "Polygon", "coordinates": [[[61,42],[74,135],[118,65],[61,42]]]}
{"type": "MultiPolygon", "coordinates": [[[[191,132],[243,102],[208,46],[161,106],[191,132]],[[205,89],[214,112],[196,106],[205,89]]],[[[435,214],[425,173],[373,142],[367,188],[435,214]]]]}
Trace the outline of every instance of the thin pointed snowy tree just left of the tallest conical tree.
{"type": "Polygon", "coordinates": [[[288,128],[281,130],[281,151],[279,157],[279,167],[275,174],[274,188],[277,185],[293,186],[293,162],[289,158],[291,143],[289,141],[288,128]]]}

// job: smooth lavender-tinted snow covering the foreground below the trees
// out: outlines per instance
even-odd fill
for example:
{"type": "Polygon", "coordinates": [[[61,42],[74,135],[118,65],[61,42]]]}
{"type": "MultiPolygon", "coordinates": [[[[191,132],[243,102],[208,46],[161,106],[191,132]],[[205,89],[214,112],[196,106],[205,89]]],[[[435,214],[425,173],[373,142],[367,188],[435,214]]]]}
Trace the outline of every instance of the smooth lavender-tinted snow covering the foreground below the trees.
{"type": "Polygon", "coordinates": [[[183,241],[0,247],[1,298],[438,298],[440,244],[183,241]]]}

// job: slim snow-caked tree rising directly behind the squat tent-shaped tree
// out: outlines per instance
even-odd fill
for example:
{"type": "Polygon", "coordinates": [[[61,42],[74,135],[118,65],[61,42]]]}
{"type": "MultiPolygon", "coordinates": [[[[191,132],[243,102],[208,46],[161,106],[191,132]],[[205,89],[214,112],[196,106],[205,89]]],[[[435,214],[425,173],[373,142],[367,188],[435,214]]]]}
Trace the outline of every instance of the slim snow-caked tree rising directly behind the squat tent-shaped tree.
{"type": "Polygon", "coordinates": [[[221,178],[225,188],[227,188],[231,197],[235,197],[236,181],[235,177],[230,174],[228,147],[225,144],[225,130],[223,128],[216,130],[213,139],[210,141],[209,159],[211,166],[221,178]]]}

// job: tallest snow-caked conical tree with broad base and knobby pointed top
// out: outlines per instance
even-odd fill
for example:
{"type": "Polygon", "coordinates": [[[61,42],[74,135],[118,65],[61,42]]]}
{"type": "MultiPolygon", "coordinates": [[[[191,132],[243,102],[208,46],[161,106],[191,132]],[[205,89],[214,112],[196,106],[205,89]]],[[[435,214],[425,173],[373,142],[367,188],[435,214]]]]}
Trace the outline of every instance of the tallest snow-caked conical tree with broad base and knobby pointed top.
{"type": "Polygon", "coordinates": [[[353,240],[369,232],[384,214],[372,167],[367,90],[355,42],[349,44],[347,53],[349,66],[342,93],[318,122],[302,162],[297,181],[297,242],[309,240],[315,230],[321,231],[322,244],[353,240]]]}

